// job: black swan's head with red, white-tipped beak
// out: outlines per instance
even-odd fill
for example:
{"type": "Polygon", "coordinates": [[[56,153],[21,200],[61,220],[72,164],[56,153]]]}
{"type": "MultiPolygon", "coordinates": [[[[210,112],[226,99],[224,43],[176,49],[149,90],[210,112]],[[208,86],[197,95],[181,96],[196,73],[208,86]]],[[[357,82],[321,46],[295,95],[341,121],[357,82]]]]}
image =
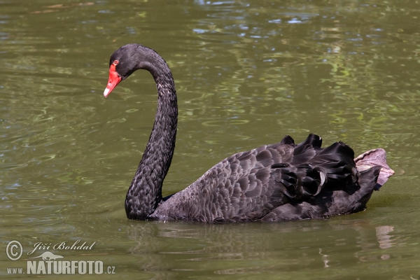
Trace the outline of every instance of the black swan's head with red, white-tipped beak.
{"type": "Polygon", "coordinates": [[[109,59],[109,80],[104,97],[137,69],[146,69],[155,77],[156,73],[167,68],[167,64],[157,52],[144,45],[131,43],[116,50],[109,59]]]}

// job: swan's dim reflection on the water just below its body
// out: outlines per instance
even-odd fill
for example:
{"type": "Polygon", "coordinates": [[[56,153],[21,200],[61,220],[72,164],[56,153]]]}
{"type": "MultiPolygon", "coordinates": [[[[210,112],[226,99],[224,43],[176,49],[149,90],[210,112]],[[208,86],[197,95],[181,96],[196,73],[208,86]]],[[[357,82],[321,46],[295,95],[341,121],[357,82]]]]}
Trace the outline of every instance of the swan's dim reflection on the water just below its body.
{"type": "MultiPolygon", "coordinates": [[[[343,265],[368,267],[391,258],[386,249],[394,227],[362,221],[202,225],[141,223],[128,228],[137,241],[130,253],[143,256],[139,269],[155,276],[207,274],[272,274],[343,265]],[[383,252],[385,250],[385,253],[383,252]],[[182,261],[183,260],[183,261],[182,261]],[[160,274],[167,271],[166,274],[160,274]]],[[[393,256],[395,258],[395,256],[393,256]]],[[[327,273],[327,274],[324,274],[327,273]]]]}

